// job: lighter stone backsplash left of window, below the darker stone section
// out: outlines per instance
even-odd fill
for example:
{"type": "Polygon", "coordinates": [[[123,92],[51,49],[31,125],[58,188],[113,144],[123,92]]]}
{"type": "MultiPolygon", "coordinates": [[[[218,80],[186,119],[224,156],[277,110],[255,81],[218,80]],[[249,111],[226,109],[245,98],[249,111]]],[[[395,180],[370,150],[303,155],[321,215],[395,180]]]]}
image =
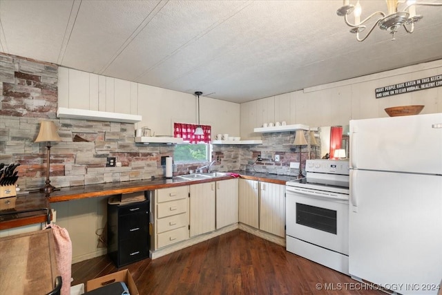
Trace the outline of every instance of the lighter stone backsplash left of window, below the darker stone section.
{"type": "MultiPolygon", "coordinates": [[[[20,163],[17,184],[26,190],[43,187],[46,180],[46,142],[34,142],[41,120],[0,116],[0,162],[20,163]]],[[[50,181],[55,187],[161,178],[161,157],[173,156],[173,146],[135,144],[133,124],[52,121],[62,139],[51,143],[50,181]],[[75,135],[90,142],[74,142],[75,135]],[[106,167],[107,157],[122,166],[106,167]]]]}

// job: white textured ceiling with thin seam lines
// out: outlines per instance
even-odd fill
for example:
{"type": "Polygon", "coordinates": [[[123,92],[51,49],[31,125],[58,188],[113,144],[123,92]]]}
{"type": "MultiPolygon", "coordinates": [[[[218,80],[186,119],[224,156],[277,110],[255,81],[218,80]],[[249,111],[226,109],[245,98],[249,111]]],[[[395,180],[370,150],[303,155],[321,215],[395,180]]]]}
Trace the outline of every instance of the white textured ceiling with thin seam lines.
{"type": "Polygon", "coordinates": [[[442,59],[442,7],[418,7],[414,34],[358,42],[342,3],[0,0],[0,51],[231,102],[442,59]]]}

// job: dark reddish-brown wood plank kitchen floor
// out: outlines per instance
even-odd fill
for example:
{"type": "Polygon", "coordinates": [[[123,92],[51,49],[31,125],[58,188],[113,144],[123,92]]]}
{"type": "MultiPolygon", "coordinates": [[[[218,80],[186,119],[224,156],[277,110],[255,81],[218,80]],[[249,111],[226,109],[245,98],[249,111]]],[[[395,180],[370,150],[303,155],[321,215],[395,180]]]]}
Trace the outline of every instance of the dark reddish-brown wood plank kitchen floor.
{"type": "Polygon", "coordinates": [[[72,285],[129,269],[144,294],[383,294],[239,229],[117,269],[107,256],[75,263],[72,285]]]}

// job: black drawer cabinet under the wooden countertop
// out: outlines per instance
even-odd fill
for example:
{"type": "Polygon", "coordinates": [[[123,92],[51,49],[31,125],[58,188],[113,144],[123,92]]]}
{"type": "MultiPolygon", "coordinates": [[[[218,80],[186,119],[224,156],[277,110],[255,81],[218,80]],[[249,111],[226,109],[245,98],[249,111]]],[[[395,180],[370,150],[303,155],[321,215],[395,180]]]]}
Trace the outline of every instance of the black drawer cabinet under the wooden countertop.
{"type": "Polygon", "coordinates": [[[149,256],[149,201],[108,203],[108,254],[121,267],[149,256]]]}

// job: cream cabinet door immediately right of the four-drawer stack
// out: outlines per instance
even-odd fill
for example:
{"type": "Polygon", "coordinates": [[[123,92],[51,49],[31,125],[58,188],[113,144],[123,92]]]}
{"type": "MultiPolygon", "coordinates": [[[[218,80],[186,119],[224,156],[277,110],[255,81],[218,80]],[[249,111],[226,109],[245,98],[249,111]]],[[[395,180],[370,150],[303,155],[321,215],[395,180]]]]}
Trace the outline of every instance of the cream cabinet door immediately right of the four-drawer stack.
{"type": "Polygon", "coordinates": [[[215,230],[215,182],[190,186],[190,236],[215,230]]]}

